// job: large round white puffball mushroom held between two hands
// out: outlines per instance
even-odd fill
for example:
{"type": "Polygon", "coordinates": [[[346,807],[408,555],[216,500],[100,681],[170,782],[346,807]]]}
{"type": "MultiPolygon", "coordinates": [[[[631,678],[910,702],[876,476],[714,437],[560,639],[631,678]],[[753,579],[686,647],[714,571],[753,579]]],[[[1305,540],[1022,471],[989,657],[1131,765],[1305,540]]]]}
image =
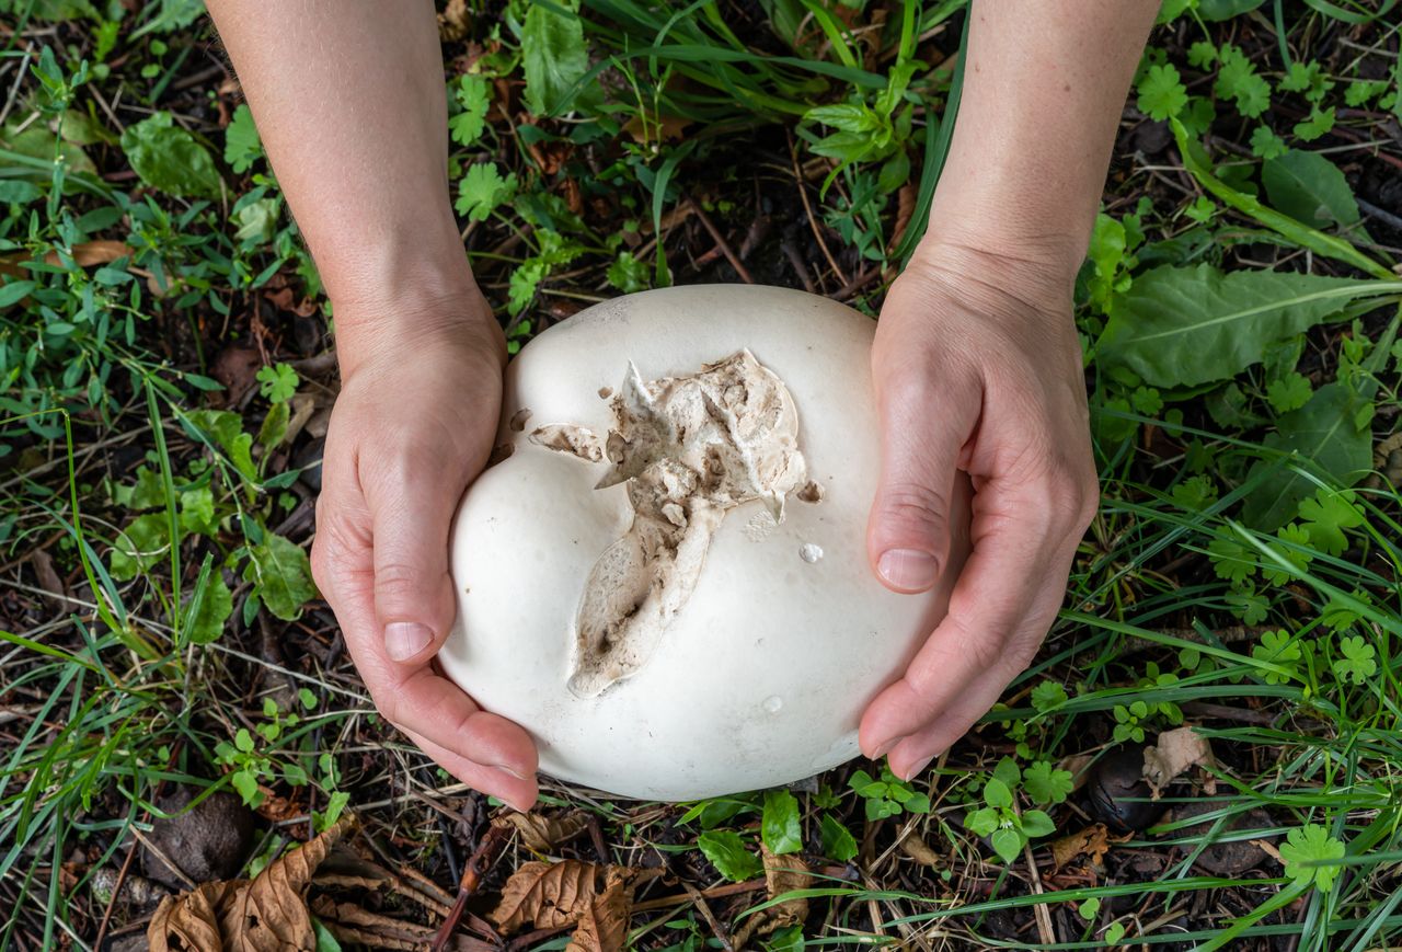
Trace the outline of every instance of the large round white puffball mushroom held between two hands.
{"type": "Polygon", "coordinates": [[[505,458],[453,524],[439,659],[543,771],[684,801],[858,753],[969,547],[960,478],[935,590],[871,572],[873,332],[824,297],[705,285],[590,307],[510,363],[505,458]]]}

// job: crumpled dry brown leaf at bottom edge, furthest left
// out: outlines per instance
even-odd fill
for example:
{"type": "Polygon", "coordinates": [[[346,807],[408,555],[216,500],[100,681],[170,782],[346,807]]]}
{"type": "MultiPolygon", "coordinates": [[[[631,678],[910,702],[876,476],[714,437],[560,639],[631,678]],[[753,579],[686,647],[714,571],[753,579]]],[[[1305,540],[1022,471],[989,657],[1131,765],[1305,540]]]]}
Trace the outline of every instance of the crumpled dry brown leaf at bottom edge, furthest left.
{"type": "Polygon", "coordinates": [[[252,880],[205,883],[178,899],[164,899],[146,930],[151,952],[315,949],[307,885],[331,847],[355,826],[353,816],[342,817],[310,843],[273,859],[252,880]]]}

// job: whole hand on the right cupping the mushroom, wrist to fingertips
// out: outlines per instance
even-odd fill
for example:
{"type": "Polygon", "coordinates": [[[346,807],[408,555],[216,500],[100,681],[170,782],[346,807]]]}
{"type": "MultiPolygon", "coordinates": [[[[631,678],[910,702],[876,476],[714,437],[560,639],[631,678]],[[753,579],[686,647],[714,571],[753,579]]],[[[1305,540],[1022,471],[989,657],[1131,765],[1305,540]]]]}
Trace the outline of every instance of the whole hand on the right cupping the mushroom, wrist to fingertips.
{"type": "Polygon", "coordinates": [[[974,488],[973,552],[949,614],[861,722],[862,753],[889,754],[904,778],[1032,662],[1095,515],[1064,261],[927,236],[882,308],[872,349],[882,477],[866,544],[883,585],[908,593],[935,583],[958,471],[974,488]]]}

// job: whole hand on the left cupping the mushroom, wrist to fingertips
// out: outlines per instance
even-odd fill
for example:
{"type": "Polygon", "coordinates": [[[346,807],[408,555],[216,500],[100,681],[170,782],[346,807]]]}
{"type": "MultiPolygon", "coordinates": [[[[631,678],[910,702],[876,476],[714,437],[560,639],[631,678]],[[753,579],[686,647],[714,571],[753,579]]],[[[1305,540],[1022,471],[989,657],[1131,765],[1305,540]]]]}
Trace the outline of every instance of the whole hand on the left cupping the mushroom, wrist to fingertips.
{"type": "Polygon", "coordinates": [[[430,662],[456,597],[453,510],[486,464],[505,342],[481,294],[336,307],[341,395],[331,414],[311,569],[386,721],[444,770],[516,809],[536,802],[536,746],[430,662]],[[349,328],[374,322],[373,351],[349,328]],[[387,329],[395,328],[395,329],[387,329]]]}

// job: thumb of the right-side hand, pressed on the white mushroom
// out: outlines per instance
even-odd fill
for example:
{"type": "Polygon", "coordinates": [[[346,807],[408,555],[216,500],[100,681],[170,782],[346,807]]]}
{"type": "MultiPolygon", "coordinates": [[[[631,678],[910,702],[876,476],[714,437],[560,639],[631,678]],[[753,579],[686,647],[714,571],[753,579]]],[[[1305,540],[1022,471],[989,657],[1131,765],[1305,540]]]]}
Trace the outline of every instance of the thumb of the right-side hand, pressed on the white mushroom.
{"type": "Polygon", "coordinates": [[[977,419],[977,384],[951,400],[925,379],[882,387],[880,482],[866,523],[866,554],[882,585],[934,587],[949,558],[949,506],[959,454],[977,419]]]}

